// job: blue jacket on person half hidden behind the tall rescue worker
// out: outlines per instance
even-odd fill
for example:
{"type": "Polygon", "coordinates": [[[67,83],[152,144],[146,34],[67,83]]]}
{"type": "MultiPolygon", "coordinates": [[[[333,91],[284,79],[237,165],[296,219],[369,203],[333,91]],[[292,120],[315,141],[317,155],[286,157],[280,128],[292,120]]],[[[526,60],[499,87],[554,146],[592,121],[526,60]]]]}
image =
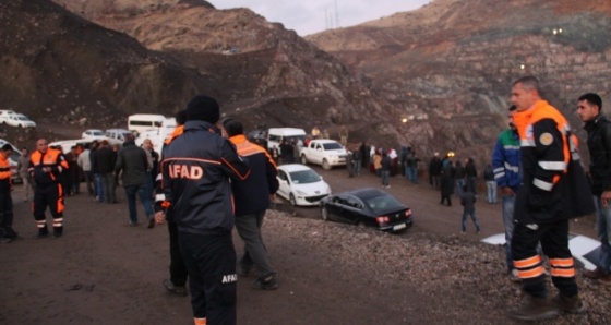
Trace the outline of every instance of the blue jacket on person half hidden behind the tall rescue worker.
{"type": "Polygon", "coordinates": [[[517,191],[522,182],[519,168],[519,136],[514,130],[505,130],[499,135],[492,152],[494,180],[500,188],[510,186],[517,191]]]}

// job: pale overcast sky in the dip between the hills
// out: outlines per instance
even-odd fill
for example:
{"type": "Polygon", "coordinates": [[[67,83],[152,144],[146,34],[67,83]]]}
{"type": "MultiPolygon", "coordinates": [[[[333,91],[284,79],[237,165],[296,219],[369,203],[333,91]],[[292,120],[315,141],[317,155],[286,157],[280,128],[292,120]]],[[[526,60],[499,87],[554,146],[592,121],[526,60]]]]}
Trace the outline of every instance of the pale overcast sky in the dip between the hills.
{"type": "Polygon", "coordinates": [[[348,27],[395,12],[416,10],[430,0],[207,0],[216,9],[249,8],[301,36],[348,27]],[[335,4],[337,3],[337,10],[335,4]],[[339,21],[339,24],[337,24],[339,21]]]}

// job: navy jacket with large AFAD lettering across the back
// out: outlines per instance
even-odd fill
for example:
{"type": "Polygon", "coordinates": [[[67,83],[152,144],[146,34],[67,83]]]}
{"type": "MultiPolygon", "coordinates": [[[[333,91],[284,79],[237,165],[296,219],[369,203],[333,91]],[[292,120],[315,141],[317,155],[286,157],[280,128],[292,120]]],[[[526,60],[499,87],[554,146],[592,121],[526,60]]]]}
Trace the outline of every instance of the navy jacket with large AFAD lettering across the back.
{"type": "Polygon", "coordinates": [[[179,231],[215,233],[233,228],[231,181],[250,173],[229,140],[204,121],[188,121],[161,161],[165,198],[179,231]]]}

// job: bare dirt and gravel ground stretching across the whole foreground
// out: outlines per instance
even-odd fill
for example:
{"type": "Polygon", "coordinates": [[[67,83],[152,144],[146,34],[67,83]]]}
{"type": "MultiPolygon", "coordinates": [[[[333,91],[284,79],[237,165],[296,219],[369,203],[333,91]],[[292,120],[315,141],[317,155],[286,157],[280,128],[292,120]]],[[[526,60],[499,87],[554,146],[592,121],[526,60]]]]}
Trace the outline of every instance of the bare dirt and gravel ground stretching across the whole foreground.
{"type": "MultiPolygon", "coordinates": [[[[333,170],[325,180],[344,177],[333,170]]],[[[398,188],[395,180],[393,190],[398,188]]],[[[406,191],[436,203],[436,193],[423,186],[406,191]]],[[[21,185],[13,193],[22,239],[0,245],[0,323],[189,324],[188,298],[168,296],[161,286],[167,230],[128,227],[122,191],[113,205],[68,197],[65,234],[57,240],[33,239],[21,185]]],[[[428,215],[447,210],[431,206],[428,215]]],[[[254,277],[240,278],[238,323],[511,324],[506,311],[519,302],[520,290],[505,274],[503,248],[474,234],[421,231],[416,222],[405,233],[386,234],[269,210],[264,238],[280,287],[255,291],[254,277]]],[[[547,324],[609,324],[611,288],[584,279],[580,270],[577,280],[587,312],[547,324]]],[[[550,289],[555,294],[551,281],[550,289]]]]}

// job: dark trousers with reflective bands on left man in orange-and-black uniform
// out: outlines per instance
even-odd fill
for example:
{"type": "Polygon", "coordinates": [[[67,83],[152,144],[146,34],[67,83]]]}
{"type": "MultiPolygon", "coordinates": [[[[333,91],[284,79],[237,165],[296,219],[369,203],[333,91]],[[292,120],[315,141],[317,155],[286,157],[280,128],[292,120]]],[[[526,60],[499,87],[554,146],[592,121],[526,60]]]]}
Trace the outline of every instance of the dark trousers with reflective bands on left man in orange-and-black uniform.
{"type": "Polygon", "coordinates": [[[37,185],[34,191],[34,220],[36,220],[38,233],[47,233],[45,217],[47,207],[53,217],[53,232],[61,233],[63,231],[63,188],[61,184],[37,185]]]}

